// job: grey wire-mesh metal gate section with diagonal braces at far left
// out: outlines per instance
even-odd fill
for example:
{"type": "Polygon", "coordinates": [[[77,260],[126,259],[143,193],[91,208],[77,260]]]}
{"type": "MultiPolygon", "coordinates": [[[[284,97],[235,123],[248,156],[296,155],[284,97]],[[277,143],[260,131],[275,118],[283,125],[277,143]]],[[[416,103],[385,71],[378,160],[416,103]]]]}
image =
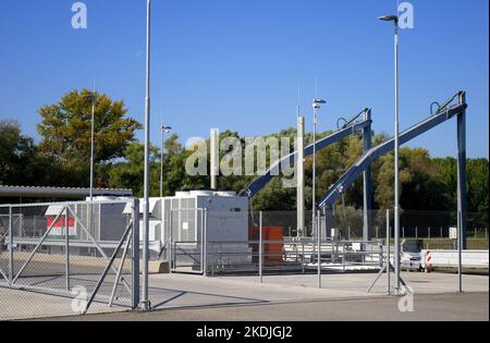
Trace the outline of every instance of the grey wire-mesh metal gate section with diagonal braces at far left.
{"type": "MultiPolygon", "coordinates": [[[[0,287],[136,308],[137,199],[0,206],[0,287]]],[[[32,304],[33,306],[36,304],[32,304]]]]}

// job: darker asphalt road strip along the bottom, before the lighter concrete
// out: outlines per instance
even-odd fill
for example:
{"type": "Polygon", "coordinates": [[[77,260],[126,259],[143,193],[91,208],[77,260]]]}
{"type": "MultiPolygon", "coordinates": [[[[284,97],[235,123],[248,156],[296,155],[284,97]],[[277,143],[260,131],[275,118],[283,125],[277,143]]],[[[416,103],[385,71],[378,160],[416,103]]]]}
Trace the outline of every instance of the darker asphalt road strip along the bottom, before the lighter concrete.
{"type": "MultiPolygon", "coordinates": [[[[97,321],[488,321],[487,293],[417,295],[413,313],[399,310],[399,298],[310,299],[270,304],[230,305],[154,313],[118,313],[61,320],[97,321]]],[[[58,319],[59,320],[59,319],[58,319]]]]}

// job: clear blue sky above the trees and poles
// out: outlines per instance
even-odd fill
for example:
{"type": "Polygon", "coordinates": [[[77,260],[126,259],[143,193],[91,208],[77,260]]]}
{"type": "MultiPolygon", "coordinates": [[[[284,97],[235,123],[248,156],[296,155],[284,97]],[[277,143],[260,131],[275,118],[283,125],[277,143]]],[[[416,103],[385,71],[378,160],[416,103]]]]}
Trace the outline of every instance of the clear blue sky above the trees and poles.
{"type": "MultiPolygon", "coordinates": [[[[36,138],[37,109],[74,88],[124,99],[144,120],[145,0],[85,0],[88,29],[71,27],[74,0],[2,0],[0,118],[36,138]]],[[[489,156],[488,0],[413,0],[401,32],[401,126],[429,103],[468,93],[468,156],[489,156]]],[[[315,78],[329,103],[322,130],[371,107],[393,131],[395,0],[154,0],[152,140],[160,118],[182,142],[210,127],[261,135],[295,125],[297,81],[311,128],[315,78]]],[[[455,121],[411,144],[455,156],[455,121]]],[[[138,133],[143,137],[143,132],[138,133]]]]}

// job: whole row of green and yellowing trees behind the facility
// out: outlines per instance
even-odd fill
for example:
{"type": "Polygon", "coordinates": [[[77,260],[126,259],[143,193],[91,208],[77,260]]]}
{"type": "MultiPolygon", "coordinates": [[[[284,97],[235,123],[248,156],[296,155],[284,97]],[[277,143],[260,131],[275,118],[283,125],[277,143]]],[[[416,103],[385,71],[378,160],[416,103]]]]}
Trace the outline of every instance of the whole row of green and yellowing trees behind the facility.
{"type": "MultiPolygon", "coordinates": [[[[107,95],[87,89],[73,90],[58,103],[39,109],[41,122],[37,125],[38,144],[24,135],[14,120],[0,121],[0,184],[24,186],[77,186],[89,184],[90,118],[95,101],[96,179],[97,187],[131,188],[143,194],[144,146],[135,139],[142,128],[136,120],[128,118],[124,101],[113,101],[107,95]]],[[[326,132],[322,135],[327,135],[326,132]]],[[[236,132],[225,131],[220,138],[237,137],[236,132]]],[[[296,136],[295,128],[272,134],[291,137],[291,148],[296,136]]],[[[320,134],[321,136],[321,134],[320,134]]],[[[385,134],[376,134],[373,145],[385,142],[385,134]]],[[[307,135],[311,143],[311,135],[307,135]]],[[[243,149],[245,150],[245,149],[243,149]]],[[[192,151],[186,150],[173,134],[166,142],[163,159],[163,191],[172,195],[180,189],[209,188],[209,176],[191,176],[185,172],[185,161],[192,151]]],[[[318,152],[317,176],[320,197],[363,154],[363,139],[352,135],[318,152]]],[[[208,159],[209,160],[209,159],[208,159]]],[[[270,162],[270,161],[269,161],[270,162]]],[[[467,161],[468,211],[480,213],[488,222],[488,159],[467,161]]],[[[160,150],[151,147],[151,195],[160,189],[160,150]]],[[[311,158],[306,159],[306,207],[311,207],[311,158]]],[[[208,168],[209,170],[209,168],[208,168]]],[[[456,209],[456,160],[431,158],[424,148],[401,150],[402,208],[405,210],[454,211],[456,209]]],[[[253,176],[220,176],[219,187],[241,191],[253,176]]],[[[373,207],[392,208],[393,155],[387,155],[372,163],[375,186],[373,207]]],[[[359,179],[345,194],[350,208],[363,207],[363,183],[359,179]]],[[[296,207],[296,189],[282,187],[274,177],[253,199],[255,209],[293,210],[296,207]]]]}

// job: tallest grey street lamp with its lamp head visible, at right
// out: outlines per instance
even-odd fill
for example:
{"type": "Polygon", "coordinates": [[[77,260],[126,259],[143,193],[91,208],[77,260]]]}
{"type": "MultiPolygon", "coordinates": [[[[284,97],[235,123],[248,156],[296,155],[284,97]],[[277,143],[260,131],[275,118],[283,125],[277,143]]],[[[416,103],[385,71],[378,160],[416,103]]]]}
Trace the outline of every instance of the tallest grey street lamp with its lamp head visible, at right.
{"type": "Polygon", "coordinates": [[[399,295],[400,290],[400,124],[399,124],[399,17],[396,15],[385,15],[379,17],[383,22],[394,23],[394,89],[395,89],[395,128],[394,128],[394,238],[395,238],[395,293],[399,295]]]}

